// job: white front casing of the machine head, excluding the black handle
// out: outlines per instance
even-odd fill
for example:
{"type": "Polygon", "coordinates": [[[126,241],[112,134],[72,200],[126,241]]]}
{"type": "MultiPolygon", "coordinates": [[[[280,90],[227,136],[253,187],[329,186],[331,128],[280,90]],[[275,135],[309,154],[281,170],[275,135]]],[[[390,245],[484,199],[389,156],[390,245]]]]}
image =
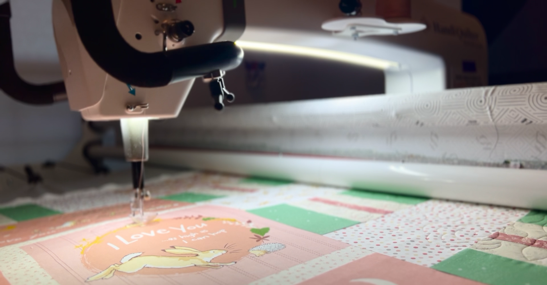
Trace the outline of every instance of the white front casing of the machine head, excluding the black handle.
{"type": "MultiPolygon", "coordinates": [[[[165,20],[189,20],[197,30],[179,43],[167,39],[167,49],[212,43],[223,34],[222,0],[175,2],[162,1],[177,5],[172,12],[156,9],[157,3],[149,0],[113,0],[112,8],[121,35],[142,52],[162,50],[163,35],[157,31],[165,20]]],[[[85,120],[178,116],[194,79],[156,88],[129,87],[109,76],[92,60],[79,39],[69,1],[53,1],[53,24],[68,100],[71,109],[80,111],[85,120]],[[128,105],[140,104],[148,104],[148,109],[127,110],[128,105]]]]}

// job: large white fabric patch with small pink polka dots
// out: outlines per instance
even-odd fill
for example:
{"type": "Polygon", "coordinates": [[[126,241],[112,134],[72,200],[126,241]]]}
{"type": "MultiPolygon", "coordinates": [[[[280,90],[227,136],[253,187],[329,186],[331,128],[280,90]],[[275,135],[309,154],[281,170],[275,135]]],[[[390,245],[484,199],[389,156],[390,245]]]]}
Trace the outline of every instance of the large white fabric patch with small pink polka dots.
{"type": "Polygon", "coordinates": [[[528,210],[429,200],[325,236],[432,266],[525,216],[528,210]]]}

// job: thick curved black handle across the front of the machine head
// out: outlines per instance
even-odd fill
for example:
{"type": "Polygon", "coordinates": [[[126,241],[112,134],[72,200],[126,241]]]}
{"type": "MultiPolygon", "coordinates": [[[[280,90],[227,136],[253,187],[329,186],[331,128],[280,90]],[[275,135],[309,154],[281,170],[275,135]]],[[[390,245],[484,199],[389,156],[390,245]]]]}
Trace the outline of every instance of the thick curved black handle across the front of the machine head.
{"type": "Polygon", "coordinates": [[[243,51],[231,41],[141,52],[118,31],[112,0],[71,0],[78,34],[91,58],[121,82],[139,87],[161,87],[196,78],[213,70],[234,69],[243,51]]]}

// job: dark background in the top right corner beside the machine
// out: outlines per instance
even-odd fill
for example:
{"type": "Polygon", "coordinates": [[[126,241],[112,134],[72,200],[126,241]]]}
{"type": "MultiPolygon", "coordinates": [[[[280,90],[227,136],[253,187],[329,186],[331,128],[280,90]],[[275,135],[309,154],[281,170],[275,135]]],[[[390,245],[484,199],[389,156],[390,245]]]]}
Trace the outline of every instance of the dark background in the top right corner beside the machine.
{"type": "Polygon", "coordinates": [[[547,1],[463,0],[488,40],[488,85],[547,81],[547,1]]]}

